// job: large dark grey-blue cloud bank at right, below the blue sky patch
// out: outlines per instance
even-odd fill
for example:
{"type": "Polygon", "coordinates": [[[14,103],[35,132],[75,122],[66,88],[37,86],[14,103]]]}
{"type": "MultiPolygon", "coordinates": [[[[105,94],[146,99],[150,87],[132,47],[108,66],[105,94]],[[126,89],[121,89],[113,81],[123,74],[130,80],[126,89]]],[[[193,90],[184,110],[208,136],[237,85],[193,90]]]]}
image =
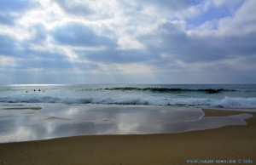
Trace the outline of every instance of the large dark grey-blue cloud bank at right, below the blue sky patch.
{"type": "Polygon", "coordinates": [[[188,63],[218,61],[256,52],[256,38],[252,35],[188,35],[171,22],[160,26],[157,33],[139,39],[155,54],[169,54],[170,60],[188,63]],[[155,44],[155,40],[160,43],[155,44]]]}

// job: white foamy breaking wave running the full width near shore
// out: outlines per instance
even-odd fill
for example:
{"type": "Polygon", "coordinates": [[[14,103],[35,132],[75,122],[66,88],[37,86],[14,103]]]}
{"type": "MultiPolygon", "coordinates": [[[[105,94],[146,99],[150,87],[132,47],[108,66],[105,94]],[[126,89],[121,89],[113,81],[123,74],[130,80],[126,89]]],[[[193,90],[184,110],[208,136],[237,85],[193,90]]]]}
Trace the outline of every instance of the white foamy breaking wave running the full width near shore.
{"type": "Polygon", "coordinates": [[[116,105],[173,105],[219,108],[255,108],[256,98],[231,98],[221,100],[211,98],[131,98],[131,97],[96,97],[96,98],[59,98],[41,97],[0,97],[1,103],[64,103],[64,104],[116,104],[116,105]]]}

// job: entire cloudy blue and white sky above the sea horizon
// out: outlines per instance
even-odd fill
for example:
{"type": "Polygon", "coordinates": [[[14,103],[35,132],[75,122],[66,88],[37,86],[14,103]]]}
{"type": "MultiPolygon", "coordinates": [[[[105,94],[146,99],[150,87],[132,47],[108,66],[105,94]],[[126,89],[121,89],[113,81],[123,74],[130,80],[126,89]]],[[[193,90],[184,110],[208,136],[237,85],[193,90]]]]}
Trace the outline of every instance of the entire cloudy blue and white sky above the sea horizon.
{"type": "Polygon", "coordinates": [[[255,0],[0,0],[0,84],[256,83],[255,0]]]}

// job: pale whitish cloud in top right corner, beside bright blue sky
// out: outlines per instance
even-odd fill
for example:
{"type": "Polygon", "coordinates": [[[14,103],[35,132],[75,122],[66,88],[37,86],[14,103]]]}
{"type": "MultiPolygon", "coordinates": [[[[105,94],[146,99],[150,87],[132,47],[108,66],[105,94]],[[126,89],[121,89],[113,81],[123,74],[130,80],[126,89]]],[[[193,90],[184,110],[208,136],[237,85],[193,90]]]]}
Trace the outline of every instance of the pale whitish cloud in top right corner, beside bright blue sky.
{"type": "MultiPolygon", "coordinates": [[[[208,2],[209,3],[209,2],[208,2]]],[[[223,5],[241,3],[241,1],[212,1],[216,7],[223,5]],[[236,2],[236,3],[235,3],[236,2]]],[[[244,36],[256,32],[256,16],[254,10],[256,3],[247,0],[242,3],[241,8],[237,9],[233,15],[228,15],[217,20],[207,20],[201,26],[187,31],[188,34],[198,36],[244,36]]]]}

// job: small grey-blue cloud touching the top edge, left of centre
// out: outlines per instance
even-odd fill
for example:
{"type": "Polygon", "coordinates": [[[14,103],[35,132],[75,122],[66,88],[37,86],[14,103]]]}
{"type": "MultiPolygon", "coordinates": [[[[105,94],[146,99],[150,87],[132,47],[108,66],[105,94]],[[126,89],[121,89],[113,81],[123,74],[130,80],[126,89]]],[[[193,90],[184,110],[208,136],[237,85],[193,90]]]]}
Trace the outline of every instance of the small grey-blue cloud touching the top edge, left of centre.
{"type": "Polygon", "coordinates": [[[61,9],[63,9],[68,14],[85,16],[94,13],[92,9],[86,6],[86,3],[71,3],[68,0],[55,0],[55,3],[57,3],[61,9]]]}

